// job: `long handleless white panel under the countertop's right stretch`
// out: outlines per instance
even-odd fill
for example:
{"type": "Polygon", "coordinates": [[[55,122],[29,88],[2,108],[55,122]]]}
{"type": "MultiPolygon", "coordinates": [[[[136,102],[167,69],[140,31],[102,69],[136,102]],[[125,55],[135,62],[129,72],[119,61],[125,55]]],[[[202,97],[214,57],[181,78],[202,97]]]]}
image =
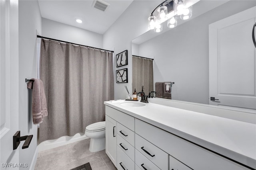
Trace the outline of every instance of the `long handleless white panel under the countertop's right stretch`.
{"type": "Polygon", "coordinates": [[[144,121],[136,119],[135,130],[138,135],[194,170],[249,170],[144,121]]]}

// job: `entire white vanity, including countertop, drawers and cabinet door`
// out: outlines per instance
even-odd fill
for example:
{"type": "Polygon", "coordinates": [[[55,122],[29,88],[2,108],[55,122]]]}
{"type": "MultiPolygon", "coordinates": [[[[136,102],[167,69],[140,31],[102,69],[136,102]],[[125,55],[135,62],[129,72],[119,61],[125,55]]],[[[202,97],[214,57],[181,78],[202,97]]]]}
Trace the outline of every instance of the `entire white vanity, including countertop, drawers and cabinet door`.
{"type": "Polygon", "coordinates": [[[254,142],[251,142],[255,141],[256,136],[250,131],[250,128],[256,126],[252,123],[151,103],[144,108],[128,108],[120,104],[104,103],[106,103],[106,153],[118,170],[256,170],[254,164],[256,147],[254,142]],[[166,111],[168,109],[169,112],[166,111]],[[160,110],[160,113],[156,115],[150,112],[152,110],[160,110]],[[202,132],[198,132],[200,130],[196,129],[198,121],[192,119],[190,114],[197,119],[211,120],[214,126],[199,121],[208,131],[202,129],[202,132]],[[184,117],[190,117],[192,123],[189,125],[188,122],[184,123],[184,117]],[[174,122],[173,119],[179,123],[174,122]],[[188,132],[204,133],[206,137],[192,136],[187,133],[188,127],[190,128],[188,132]],[[235,135],[245,137],[242,139],[246,139],[249,147],[240,145],[232,138],[234,137],[230,134],[232,129],[228,131],[230,127],[244,129],[236,131],[235,135]],[[179,128],[183,128],[183,131],[179,128]],[[217,130],[219,131],[216,132],[217,130]],[[222,135],[222,132],[228,133],[222,135]],[[248,133],[241,135],[241,132],[248,133]],[[248,134],[252,137],[249,138],[248,134]],[[220,141],[211,143],[206,140],[209,139],[207,135],[216,136],[220,141]],[[222,147],[223,143],[235,145],[230,149],[230,147],[222,147]],[[237,149],[253,155],[243,156],[237,149]]]}

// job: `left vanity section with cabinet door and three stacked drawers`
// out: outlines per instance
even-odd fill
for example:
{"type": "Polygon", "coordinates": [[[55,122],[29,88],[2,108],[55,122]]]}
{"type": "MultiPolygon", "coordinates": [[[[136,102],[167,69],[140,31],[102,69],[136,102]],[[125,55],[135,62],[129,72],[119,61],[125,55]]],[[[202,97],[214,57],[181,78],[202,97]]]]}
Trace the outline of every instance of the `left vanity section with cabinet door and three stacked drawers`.
{"type": "Polygon", "coordinates": [[[135,169],[134,117],[106,106],[106,154],[118,170],[135,169]]]}

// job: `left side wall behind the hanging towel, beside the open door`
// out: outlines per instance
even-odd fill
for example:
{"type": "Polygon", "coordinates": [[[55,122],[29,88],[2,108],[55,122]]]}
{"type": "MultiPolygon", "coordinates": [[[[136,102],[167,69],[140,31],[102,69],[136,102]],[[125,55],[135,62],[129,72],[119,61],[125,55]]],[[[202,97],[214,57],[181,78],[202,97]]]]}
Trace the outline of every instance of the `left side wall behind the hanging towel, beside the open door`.
{"type": "MultiPolygon", "coordinates": [[[[33,166],[32,159],[37,147],[37,125],[33,124],[31,113],[31,90],[27,89],[25,78],[36,78],[36,31],[41,34],[41,14],[38,1],[19,1],[19,129],[20,135],[33,135],[30,146],[21,149],[20,163],[33,166]]],[[[22,169],[22,168],[21,168],[22,169]]],[[[33,168],[32,168],[33,169],[33,168]]]]}

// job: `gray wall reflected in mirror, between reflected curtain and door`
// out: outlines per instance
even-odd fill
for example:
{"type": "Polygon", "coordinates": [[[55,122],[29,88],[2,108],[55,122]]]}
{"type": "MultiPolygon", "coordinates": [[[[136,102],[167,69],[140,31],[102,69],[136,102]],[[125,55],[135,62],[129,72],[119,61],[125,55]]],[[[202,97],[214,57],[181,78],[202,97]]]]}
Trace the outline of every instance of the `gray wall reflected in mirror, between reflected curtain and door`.
{"type": "Polygon", "coordinates": [[[210,23],[256,1],[230,1],[139,45],[139,55],[154,56],[154,82],[172,81],[172,99],[209,104],[210,23]]]}

